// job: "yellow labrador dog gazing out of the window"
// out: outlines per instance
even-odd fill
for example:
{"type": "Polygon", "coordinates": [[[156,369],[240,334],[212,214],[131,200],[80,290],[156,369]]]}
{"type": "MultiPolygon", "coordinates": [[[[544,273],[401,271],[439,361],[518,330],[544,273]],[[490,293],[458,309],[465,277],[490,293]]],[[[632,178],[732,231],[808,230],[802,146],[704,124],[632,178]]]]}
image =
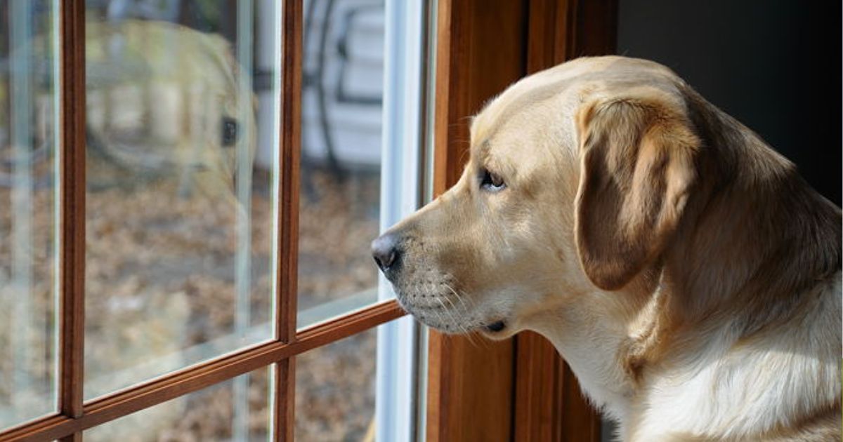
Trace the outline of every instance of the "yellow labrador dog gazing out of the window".
{"type": "Polygon", "coordinates": [[[432,328],[549,338],[620,439],[840,440],[840,223],[674,72],[609,56],[488,104],[373,255],[432,328]]]}

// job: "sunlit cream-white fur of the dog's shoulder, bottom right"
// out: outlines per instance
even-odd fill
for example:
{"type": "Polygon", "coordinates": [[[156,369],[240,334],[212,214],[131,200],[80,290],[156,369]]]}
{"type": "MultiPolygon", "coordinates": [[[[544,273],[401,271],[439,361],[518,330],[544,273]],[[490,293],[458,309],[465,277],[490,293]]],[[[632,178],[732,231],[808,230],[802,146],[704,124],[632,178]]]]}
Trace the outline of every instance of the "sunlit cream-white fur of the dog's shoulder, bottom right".
{"type": "Polygon", "coordinates": [[[840,272],[803,296],[801,312],[775,328],[739,337],[723,319],[675,344],[643,376],[633,439],[840,439],[840,272]]]}

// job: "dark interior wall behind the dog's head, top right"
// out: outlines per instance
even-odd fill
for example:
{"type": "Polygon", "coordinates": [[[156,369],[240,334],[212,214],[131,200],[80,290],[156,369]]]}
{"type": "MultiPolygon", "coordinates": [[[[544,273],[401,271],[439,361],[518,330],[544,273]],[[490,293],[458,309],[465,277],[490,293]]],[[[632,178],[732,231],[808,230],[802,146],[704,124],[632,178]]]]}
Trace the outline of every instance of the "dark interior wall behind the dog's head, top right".
{"type": "Polygon", "coordinates": [[[659,61],[840,205],[840,2],[620,0],[618,54],[659,61]]]}

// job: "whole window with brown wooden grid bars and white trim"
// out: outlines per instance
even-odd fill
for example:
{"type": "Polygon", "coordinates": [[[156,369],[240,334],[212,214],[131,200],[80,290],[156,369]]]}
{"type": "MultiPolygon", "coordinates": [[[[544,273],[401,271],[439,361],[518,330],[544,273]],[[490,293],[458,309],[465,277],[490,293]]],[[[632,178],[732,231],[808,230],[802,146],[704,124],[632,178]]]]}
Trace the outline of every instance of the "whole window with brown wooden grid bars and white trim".
{"type": "Polygon", "coordinates": [[[416,431],[427,8],[0,4],[0,439],[416,431]]]}

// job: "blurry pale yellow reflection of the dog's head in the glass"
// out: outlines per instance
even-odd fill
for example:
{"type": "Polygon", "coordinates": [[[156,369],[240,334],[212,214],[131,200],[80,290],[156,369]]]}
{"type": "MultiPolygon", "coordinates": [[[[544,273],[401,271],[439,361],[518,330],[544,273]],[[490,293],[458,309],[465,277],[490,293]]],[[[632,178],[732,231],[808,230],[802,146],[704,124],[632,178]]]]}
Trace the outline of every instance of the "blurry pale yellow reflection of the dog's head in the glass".
{"type": "MultiPolygon", "coordinates": [[[[233,194],[234,144],[255,133],[255,115],[239,120],[239,69],[228,41],[179,24],[124,20],[89,22],[86,44],[89,157],[116,166],[110,172],[119,177],[89,168],[89,183],[169,177],[182,194],[233,194]]],[[[243,141],[251,163],[254,141],[243,141]]]]}

